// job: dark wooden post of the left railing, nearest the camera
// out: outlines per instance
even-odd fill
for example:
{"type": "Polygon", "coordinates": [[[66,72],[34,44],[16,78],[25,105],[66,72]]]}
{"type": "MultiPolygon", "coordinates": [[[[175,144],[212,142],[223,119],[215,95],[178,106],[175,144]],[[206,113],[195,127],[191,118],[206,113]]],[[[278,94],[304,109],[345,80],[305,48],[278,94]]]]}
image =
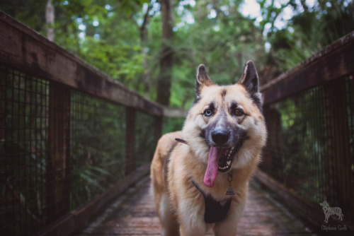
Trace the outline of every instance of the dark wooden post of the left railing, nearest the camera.
{"type": "Polygon", "coordinates": [[[51,82],[47,143],[47,223],[70,208],[70,90],[51,82]]]}

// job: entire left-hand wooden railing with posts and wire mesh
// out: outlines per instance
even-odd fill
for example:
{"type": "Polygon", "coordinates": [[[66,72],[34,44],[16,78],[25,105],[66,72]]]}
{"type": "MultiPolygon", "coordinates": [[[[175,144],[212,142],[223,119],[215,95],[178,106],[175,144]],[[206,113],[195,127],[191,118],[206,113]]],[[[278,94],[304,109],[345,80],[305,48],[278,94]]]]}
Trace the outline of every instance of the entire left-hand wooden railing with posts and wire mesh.
{"type": "Polygon", "coordinates": [[[185,115],[1,11],[0,89],[4,235],[69,235],[148,174],[163,123],[185,115]]]}

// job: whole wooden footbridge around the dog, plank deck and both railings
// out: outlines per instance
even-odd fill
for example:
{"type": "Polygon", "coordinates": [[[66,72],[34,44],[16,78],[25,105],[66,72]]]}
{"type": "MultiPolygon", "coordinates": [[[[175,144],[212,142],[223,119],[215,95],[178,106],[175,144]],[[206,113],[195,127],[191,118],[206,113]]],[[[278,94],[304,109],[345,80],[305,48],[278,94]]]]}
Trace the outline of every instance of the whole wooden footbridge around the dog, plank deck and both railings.
{"type": "MultiPolygon", "coordinates": [[[[353,235],[353,52],[350,33],[262,86],[269,137],[239,235],[353,235]]],[[[159,235],[149,165],[183,117],[0,11],[1,235],[159,235]]]]}

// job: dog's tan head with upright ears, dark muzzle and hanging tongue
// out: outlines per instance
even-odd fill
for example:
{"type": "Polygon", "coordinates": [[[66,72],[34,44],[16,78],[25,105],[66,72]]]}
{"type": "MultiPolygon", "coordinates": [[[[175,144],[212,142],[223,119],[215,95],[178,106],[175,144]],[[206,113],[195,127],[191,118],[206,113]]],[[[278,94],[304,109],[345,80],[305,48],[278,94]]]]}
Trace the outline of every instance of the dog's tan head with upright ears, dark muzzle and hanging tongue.
{"type": "Polygon", "coordinates": [[[195,156],[207,164],[205,185],[212,187],[217,172],[251,165],[265,145],[266,129],[258,75],[252,61],[234,85],[211,81],[198,66],[196,99],[183,126],[183,136],[195,156]]]}

